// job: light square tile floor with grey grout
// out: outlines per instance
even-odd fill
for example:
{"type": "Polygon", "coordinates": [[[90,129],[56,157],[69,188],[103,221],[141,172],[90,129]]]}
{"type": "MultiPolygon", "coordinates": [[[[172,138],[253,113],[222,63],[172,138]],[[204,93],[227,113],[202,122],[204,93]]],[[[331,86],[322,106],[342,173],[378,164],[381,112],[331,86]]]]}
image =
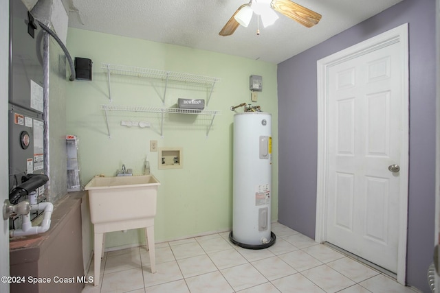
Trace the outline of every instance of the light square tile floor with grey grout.
{"type": "Polygon", "coordinates": [[[282,224],[272,231],[276,243],[263,250],[234,246],[229,233],[156,244],[155,274],[145,246],[104,253],[100,285],[83,293],[415,292],[282,224]]]}

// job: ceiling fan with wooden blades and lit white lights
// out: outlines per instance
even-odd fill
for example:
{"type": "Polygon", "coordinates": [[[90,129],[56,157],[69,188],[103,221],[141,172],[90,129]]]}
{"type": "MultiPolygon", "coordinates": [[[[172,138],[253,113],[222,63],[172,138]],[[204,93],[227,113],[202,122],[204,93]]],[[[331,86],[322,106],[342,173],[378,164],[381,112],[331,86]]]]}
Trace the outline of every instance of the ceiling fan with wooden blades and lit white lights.
{"type": "MultiPolygon", "coordinates": [[[[316,25],[322,17],[321,14],[290,0],[250,0],[249,3],[241,5],[239,9],[236,10],[228,23],[221,29],[219,35],[230,36],[234,34],[239,25],[248,27],[253,13],[261,17],[264,27],[271,25],[278,19],[278,15],[274,10],[297,21],[305,27],[316,25]]],[[[258,31],[257,34],[259,34],[258,31]]]]}

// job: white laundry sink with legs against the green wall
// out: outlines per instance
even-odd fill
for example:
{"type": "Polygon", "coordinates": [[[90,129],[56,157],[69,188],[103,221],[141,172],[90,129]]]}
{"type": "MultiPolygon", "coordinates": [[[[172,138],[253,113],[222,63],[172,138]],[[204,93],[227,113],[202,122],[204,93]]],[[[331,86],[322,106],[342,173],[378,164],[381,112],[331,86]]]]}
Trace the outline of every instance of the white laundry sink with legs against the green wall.
{"type": "Polygon", "coordinates": [[[154,217],[159,181],[153,175],[96,176],[85,186],[89,191],[90,220],[94,224],[94,285],[100,281],[104,234],[145,228],[151,272],[155,273],[154,217]]]}

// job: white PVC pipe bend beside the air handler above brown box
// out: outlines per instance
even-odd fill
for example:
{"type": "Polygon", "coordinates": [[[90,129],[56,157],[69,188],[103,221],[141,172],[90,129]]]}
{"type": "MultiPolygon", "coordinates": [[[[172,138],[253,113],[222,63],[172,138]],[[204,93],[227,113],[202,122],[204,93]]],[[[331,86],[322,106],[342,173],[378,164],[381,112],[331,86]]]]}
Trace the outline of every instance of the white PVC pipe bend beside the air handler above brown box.
{"type": "Polygon", "coordinates": [[[43,221],[40,226],[32,226],[30,222],[30,213],[23,215],[21,229],[11,230],[10,237],[19,237],[26,235],[36,235],[39,233],[45,233],[50,228],[50,217],[52,211],[54,211],[54,205],[50,202],[40,202],[39,204],[31,204],[31,211],[44,211],[43,221]]]}

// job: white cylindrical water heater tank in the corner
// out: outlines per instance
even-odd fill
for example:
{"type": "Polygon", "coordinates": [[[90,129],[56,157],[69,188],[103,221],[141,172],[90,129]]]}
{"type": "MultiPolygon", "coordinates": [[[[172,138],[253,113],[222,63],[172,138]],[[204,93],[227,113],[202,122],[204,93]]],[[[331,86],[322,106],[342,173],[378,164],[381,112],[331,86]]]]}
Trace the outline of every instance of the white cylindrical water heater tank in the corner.
{"type": "Polygon", "coordinates": [[[234,115],[233,213],[230,240],[243,248],[274,244],[271,231],[272,116],[234,115]]]}

